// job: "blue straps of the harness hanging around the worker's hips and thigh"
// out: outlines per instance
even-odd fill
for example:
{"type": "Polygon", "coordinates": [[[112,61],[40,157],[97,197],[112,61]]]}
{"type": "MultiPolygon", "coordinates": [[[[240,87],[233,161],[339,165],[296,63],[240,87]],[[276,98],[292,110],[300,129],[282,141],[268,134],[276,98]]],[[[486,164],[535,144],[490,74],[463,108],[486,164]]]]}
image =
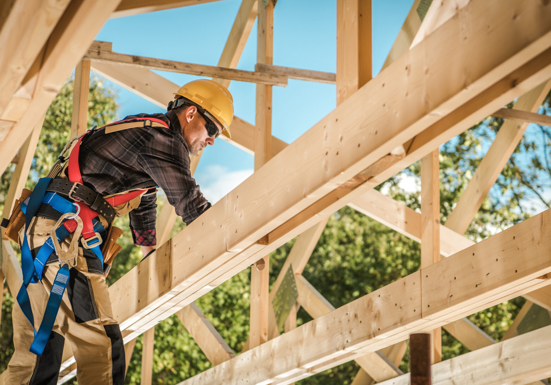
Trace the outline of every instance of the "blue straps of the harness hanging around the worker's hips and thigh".
{"type": "MultiPolygon", "coordinates": [[[[34,328],[33,310],[31,309],[27,287],[30,283],[36,283],[42,278],[42,272],[44,271],[46,261],[52,254],[52,251],[55,251],[55,246],[53,245],[51,237],[48,238],[46,242],[42,244],[33,260],[33,255],[31,254],[27,240],[27,230],[29,229],[30,222],[39,210],[42,202],[47,203],[54,210],[62,214],[73,212],[75,208],[72,202],[55,193],[46,194],[46,187],[50,181],[51,178],[40,179],[33,191],[33,194],[25,199],[25,201],[21,202],[21,211],[25,213],[25,233],[23,237],[23,244],[21,245],[21,270],[23,270],[23,284],[17,294],[17,302],[21,308],[21,311],[23,311],[25,317],[29,320],[31,326],[33,326],[35,338],[31,344],[30,351],[31,353],[39,356],[41,356],[44,352],[44,348],[46,347],[46,343],[48,342],[48,338],[50,338],[50,334],[52,332],[53,324],[56,321],[57,312],[60,309],[61,301],[63,299],[63,293],[69,282],[69,266],[63,265],[57,272],[56,278],[52,283],[50,297],[48,298],[48,302],[46,304],[46,310],[44,312],[44,316],[42,317],[40,328],[36,331],[34,328]]],[[[94,231],[103,232],[105,230],[99,221],[94,219],[94,222],[94,231]]],[[[56,230],[56,237],[58,240],[63,240],[69,234],[71,233],[65,226],[60,226],[60,228],[56,230]]],[[[90,248],[90,250],[93,251],[101,261],[103,261],[103,256],[99,246],[90,248]]]]}

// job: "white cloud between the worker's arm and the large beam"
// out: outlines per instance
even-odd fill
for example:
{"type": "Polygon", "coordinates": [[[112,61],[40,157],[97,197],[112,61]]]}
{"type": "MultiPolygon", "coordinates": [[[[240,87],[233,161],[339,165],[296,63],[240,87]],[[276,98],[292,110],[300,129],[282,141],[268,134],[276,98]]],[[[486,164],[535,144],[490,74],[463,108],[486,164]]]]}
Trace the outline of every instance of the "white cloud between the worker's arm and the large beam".
{"type": "Polygon", "coordinates": [[[227,167],[213,164],[204,173],[197,175],[196,179],[203,195],[210,203],[215,204],[252,173],[252,169],[229,171],[227,167]]]}

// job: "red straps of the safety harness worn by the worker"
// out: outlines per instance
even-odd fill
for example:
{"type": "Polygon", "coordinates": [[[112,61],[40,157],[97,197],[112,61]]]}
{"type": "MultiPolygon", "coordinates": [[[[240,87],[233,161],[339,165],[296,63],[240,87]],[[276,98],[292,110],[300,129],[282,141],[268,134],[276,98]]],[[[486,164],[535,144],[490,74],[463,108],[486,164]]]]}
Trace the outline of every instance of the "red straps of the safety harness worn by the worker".
{"type": "MultiPolygon", "coordinates": [[[[166,128],[169,128],[168,125],[166,125],[166,123],[163,122],[163,120],[160,120],[160,119],[156,119],[156,118],[134,118],[134,119],[127,119],[127,120],[120,120],[120,121],[115,122],[115,123],[107,124],[104,127],[100,128],[100,130],[104,129],[107,126],[111,126],[111,125],[118,124],[118,123],[128,122],[129,120],[143,120],[143,121],[149,120],[149,121],[161,123],[166,128]]],[[[82,143],[82,140],[86,136],[87,135],[83,135],[83,136],[80,137],[77,144],[74,146],[74,149],[71,152],[71,155],[69,156],[69,167],[68,167],[68,169],[69,169],[69,180],[73,183],[77,182],[77,183],[83,184],[82,175],[80,174],[80,167],[78,165],[78,155],[79,155],[79,151],[80,151],[80,144],[82,143]]],[[[126,194],[112,196],[110,198],[107,198],[106,201],[111,206],[114,207],[114,206],[126,203],[128,201],[131,201],[132,199],[134,199],[135,197],[143,194],[147,190],[148,189],[136,190],[136,191],[131,191],[131,192],[126,193],[126,194]]],[[[82,222],[83,222],[82,237],[84,239],[89,239],[91,237],[94,237],[95,232],[94,232],[94,225],[92,223],[92,219],[99,216],[99,213],[97,211],[92,210],[87,204],[79,203],[78,199],[75,199],[75,198],[73,198],[73,199],[75,201],[77,201],[78,205],[80,206],[79,217],[82,219],[82,222]]],[[[71,221],[67,221],[66,223],[64,223],[64,226],[67,228],[67,230],[73,232],[77,228],[77,221],[75,221],[75,219],[71,219],[71,221]]]]}

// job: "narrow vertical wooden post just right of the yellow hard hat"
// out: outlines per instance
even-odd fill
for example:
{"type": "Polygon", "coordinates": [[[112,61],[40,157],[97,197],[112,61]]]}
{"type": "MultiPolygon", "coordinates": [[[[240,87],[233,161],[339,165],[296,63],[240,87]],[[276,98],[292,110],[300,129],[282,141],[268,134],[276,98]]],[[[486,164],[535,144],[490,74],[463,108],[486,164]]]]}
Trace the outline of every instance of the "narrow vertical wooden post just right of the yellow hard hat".
{"type": "MultiPolygon", "coordinates": [[[[273,19],[274,4],[270,0],[266,7],[258,4],[258,37],[256,60],[262,64],[273,64],[273,19]]],[[[272,86],[256,85],[255,119],[255,171],[272,156],[272,86]]],[[[268,340],[268,296],[269,255],[264,258],[264,269],[251,267],[251,320],[249,348],[268,340]]]]}

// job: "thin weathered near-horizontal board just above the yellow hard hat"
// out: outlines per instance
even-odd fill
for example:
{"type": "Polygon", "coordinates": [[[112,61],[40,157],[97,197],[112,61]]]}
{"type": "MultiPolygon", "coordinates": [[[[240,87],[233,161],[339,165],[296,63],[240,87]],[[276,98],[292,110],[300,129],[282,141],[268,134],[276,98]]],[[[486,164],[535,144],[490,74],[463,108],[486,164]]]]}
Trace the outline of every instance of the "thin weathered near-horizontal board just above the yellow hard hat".
{"type": "Polygon", "coordinates": [[[174,60],[126,55],[112,51],[88,50],[83,59],[94,62],[124,65],[126,67],[156,69],[160,71],[176,72],[179,74],[209,76],[212,78],[247,81],[250,83],[268,84],[274,86],[287,86],[287,78],[280,75],[245,71],[234,68],[214,67],[214,65],[184,63],[174,60]]]}

